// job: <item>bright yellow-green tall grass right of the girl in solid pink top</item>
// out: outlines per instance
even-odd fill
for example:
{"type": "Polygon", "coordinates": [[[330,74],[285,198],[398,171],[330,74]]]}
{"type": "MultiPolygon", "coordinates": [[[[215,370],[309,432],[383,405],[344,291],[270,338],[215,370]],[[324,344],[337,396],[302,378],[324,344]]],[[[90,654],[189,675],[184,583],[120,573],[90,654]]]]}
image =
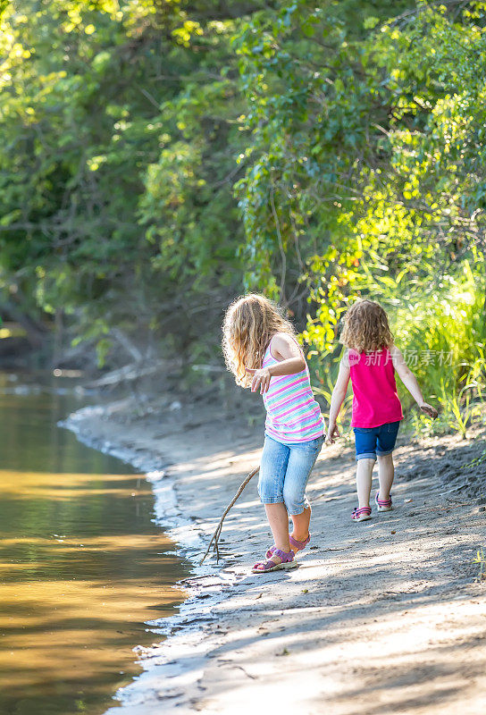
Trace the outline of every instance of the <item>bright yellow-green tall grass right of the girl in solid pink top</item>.
{"type": "MultiPolygon", "coordinates": [[[[466,436],[467,427],[482,410],[485,383],[486,315],[482,271],[469,262],[456,276],[448,275],[432,290],[403,297],[391,324],[398,347],[415,372],[425,400],[440,404],[438,427],[466,436]]],[[[406,407],[412,403],[399,387],[406,407]]],[[[415,418],[415,429],[426,419],[415,418]]]]}

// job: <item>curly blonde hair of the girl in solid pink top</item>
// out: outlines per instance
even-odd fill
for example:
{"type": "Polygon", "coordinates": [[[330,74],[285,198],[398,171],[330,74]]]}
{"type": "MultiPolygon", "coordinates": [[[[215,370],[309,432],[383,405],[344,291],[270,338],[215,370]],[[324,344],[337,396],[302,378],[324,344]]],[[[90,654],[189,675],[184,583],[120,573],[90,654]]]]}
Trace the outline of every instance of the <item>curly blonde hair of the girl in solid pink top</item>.
{"type": "Polygon", "coordinates": [[[344,316],[339,341],[358,353],[390,348],[393,335],[381,305],[373,300],[358,300],[344,316]]]}

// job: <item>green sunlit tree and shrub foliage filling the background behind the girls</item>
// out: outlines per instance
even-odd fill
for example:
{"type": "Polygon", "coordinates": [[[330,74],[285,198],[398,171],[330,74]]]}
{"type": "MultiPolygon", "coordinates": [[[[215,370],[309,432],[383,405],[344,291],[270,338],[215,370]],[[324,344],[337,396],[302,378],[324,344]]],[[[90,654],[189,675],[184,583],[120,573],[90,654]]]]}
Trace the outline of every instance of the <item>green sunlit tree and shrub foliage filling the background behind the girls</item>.
{"type": "Polygon", "coordinates": [[[16,0],[1,23],[4,296],[101,359],[121,331],[197,362],[262,290],[326,393],[365,295],[447,352],[417,370],[450,414],[480,389],[486,3],[16,0]]]}

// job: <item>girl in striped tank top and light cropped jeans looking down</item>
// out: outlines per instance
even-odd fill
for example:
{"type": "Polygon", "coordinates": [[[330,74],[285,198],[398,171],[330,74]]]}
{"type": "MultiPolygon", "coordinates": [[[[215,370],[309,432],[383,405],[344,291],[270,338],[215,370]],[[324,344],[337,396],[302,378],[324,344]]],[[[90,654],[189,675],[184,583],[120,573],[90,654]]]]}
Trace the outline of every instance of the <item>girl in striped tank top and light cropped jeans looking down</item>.
{"type": "Polygon", "coordinates": [[[259,390],[266,408],[258,493],[274,544],[253,573],[295,568],[297,551],[311,538],[306,484],[324,441],[324,420],[306,359],[281,308],[262,295],[235,300],[222,332],[226,364],[236,382],[259,390]]]}

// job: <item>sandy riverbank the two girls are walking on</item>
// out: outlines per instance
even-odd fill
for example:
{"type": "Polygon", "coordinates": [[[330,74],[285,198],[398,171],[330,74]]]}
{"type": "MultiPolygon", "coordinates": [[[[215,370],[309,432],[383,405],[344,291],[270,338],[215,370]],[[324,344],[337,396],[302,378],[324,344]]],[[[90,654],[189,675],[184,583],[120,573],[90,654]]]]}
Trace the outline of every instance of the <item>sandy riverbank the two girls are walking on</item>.
{"type": "MultiPolygon", "coordinates": [[[[157,517],[197,563],[258,463],[262,427],[221,419],[216,406],[128,412],[122,402],[87,410],[71,427],[141,469],[171,462],[150,476],[157,517]]],[[[145,652],[146,671],[110,715],[482,713],[486,604],[473,557],[486,542],[484,465],[464,467],[484,448],[474,436],[402,438],[396,509],[362,524],[349,518],[352,445],[324,449],[309,489],[311,548],[289,572],[250,573],[271,544],[255,479],[225,521],[224,561],[194,569],[180,615],[158,624],[170,637],[145,652]]]]}

